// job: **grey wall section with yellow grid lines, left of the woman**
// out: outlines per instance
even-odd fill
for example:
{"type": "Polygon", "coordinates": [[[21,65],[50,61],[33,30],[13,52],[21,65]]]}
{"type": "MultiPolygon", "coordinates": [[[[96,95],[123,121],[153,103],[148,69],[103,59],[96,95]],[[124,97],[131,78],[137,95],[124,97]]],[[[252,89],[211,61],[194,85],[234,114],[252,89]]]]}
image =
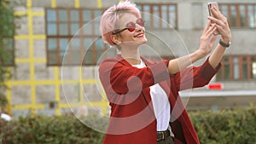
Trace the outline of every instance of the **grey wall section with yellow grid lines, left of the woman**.
{"type": "MultiPolygon", "coordinates": [[[[108,103],[97,90],[94,66],[47,66],[44,8],[87,7],[79,0],[23,0],[15,3],[15,67],[7,85],[9,113],[25,116],[32,113],[57,114],[70,112],[69,107],[93,105],[106,112],[108,103]],[[66,89],[66,90],[63,90],[66,89]],[[86,95],[92,95],[90,98],[86,95]],[[89,98],[90,100],[84,100],[89,98]],[[86,102],[90,101],[90,103],[86,102]],[[86,104],[85,104],[86,102],[86,104]]],[[[101,8],[101,1],[89,7],[101,8]]],[[[102,89],[100,90],[102,93],[102,89]]],[[[75,109],[72,109],[75,111],[75,109]]]]}

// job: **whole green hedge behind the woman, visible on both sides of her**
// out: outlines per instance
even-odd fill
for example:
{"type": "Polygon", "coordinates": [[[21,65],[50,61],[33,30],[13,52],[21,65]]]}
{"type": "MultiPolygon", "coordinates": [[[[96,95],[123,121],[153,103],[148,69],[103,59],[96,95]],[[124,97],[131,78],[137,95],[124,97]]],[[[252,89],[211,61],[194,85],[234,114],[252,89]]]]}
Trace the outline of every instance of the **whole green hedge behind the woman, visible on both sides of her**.
{"type": "MultiPolygon", "coordinates": [[[[189,115],[202,144],[256,143],[256,107],[189,112],[189,115]]],[[[3,144],[101,144],[103,136],[73,116],[0,120],[3,144]]]]}

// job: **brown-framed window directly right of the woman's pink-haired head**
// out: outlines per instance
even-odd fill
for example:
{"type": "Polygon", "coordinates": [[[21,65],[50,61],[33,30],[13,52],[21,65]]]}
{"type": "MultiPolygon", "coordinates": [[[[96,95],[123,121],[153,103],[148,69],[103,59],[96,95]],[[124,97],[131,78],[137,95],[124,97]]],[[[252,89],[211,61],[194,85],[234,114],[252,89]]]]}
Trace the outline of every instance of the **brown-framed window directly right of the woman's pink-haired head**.
{"type": "Polygon", "coordinates": [[[150,28],[177,28],[176,4],[137,4],[146,26],[150,28]]]}

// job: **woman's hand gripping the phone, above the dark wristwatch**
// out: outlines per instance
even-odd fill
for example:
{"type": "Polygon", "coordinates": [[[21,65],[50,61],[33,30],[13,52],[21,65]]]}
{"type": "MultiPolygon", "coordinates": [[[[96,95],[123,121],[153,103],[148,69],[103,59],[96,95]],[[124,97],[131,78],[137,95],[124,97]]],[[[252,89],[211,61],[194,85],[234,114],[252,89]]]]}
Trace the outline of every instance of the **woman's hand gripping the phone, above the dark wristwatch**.
{"type": "Polygon", "coordinates": [[[209,16],[208,19],[216,24],[217,30],[221,35],[221,39],[224,43],[229,43],[231,39],[230,26],[227,18],[218,11],[215,7],[211,9],[212,16],[209,16]]]}

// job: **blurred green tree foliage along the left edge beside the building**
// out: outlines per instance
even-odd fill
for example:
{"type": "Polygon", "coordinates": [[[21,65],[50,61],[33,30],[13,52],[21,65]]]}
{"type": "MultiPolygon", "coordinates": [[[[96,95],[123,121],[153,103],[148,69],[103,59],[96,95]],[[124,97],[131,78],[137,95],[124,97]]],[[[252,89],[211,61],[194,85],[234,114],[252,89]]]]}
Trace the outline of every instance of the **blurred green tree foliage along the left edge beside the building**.
{"type": "Polygon", "coordinates": [[[14,65],[14,12],[10,7],[9,0],[0,0],[0,107],[8,103],[3,89],[11,74],[8,66],[14,65]]]}

